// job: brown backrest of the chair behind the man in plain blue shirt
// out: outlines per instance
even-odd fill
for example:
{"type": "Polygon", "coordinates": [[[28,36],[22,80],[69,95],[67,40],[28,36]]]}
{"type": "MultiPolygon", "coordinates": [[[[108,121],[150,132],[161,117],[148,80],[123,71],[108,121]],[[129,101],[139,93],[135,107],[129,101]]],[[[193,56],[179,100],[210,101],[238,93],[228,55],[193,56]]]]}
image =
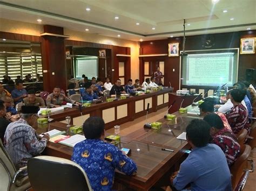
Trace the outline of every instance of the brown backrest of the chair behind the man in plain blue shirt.
{"type": "Polygon", "coordinates": [[[251,154],[251,146],[244,145],[241,147],[241,151],[239,157],[234,162],[234,164],[230,167],[230,172],[232,176],[232,187],[237,187],[239,180],[241,179],[242,175],[244,175],[244,170],[247,168],[247,159],[251,154]]]}

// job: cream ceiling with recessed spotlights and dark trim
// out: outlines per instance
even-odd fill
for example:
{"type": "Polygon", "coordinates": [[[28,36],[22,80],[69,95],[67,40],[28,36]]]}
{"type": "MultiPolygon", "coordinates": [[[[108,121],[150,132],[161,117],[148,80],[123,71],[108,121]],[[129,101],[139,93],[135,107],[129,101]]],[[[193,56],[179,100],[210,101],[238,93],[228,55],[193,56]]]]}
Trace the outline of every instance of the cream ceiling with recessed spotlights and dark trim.
{"type": "Polygon", "coordinates": [[[0,0],[0,17],[133,41],[183,36],[184,19],[187,36],[256,30],[256,0],[215,1],[0,0]]]}

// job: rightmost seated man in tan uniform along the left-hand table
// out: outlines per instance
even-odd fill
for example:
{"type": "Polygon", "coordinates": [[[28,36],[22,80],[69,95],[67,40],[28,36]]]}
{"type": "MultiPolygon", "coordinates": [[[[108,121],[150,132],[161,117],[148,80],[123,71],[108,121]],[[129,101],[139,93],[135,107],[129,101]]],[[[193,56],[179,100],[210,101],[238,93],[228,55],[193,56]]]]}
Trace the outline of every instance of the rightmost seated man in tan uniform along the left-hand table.
{"type": "Polygon", "coordinates": [[[64,94],[60,93],[60,88],[55,87],[51,94],[49,94],[46,98],[46,105],[49,108],[58,108],[60,105],[65,105],[66,103],[75,103],[75,100],[71,100],[70,98],[66,97],[64,94]]]}

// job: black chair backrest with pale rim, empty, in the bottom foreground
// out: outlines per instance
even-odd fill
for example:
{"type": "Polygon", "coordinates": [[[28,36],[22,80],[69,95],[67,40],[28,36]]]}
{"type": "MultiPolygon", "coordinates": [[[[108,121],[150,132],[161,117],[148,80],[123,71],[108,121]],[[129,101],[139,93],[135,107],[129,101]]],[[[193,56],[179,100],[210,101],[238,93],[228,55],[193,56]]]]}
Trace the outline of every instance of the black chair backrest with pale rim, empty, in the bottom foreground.
{"type": "Polygon", "coordinates": [[[71,160],[39,156],[28,161],[33,190],[92,190],[82,167],[71,160]]]}

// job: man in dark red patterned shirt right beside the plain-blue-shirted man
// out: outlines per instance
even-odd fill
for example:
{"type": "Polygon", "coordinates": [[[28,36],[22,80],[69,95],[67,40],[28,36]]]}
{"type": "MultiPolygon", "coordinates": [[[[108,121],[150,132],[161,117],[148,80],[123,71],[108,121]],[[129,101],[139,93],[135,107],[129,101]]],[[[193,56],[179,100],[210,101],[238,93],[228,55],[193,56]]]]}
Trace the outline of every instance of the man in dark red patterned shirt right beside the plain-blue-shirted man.
{"type": "Polygon", "coordinates": [[[223,150],[228,166],[234,164],[240,153],[240,145],[231,130],[225,129],[223,121],[217,114],[208,114],[204,117],[210,126],[210,134],[212,136],[212,142],[218,145],[223,150]]]}

